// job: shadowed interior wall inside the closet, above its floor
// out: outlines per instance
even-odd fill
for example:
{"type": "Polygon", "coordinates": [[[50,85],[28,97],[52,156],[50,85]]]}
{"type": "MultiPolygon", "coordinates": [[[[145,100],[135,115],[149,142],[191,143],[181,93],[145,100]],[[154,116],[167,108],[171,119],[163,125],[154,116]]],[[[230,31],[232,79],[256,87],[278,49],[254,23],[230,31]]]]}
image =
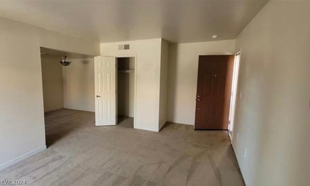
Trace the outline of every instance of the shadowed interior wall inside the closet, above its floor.
{"type": "MultiPolygon", "coordinates": [[[[119,69],[135,69],[135,58],[118,58],[119,69]]],[[[135,73],[122,73],[117,75],[117,109],[118,115],[134,117],[135,107],[135,73]]]]}

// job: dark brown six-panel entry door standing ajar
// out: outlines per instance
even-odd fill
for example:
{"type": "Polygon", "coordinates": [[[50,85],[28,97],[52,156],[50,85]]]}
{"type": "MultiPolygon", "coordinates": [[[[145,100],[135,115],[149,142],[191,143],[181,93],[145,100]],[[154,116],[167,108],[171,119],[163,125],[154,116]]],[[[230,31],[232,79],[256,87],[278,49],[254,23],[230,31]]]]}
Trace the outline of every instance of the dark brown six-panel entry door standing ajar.
{"type": "Polygon", "coordinates": [[[195,129],[228,129],[224,124],[229,56],[199,56],[195,129]]]}

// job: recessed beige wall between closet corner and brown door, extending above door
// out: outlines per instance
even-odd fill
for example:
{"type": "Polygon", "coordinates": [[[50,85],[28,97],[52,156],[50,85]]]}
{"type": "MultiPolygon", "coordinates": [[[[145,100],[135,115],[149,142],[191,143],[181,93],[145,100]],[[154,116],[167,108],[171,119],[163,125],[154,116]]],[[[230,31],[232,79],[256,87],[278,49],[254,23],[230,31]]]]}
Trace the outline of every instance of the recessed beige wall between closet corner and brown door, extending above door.
{"type": "Polygon", "coordinates": [[[171,44],[167,120],[194,124],[199,55],[230,55],[234,40],[171,44]]]}

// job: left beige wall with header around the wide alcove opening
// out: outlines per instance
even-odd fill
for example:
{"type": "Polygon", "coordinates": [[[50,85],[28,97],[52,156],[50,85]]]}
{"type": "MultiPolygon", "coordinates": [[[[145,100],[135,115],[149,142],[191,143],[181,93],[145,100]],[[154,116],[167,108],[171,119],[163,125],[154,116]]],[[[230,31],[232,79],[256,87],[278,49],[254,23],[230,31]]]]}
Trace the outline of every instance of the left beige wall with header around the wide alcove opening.
{"type": "Polygon", "coordinates": [[[98,55],[99,44],[0,17],[0,169],[45,148],[40,47],[98,55]]]}

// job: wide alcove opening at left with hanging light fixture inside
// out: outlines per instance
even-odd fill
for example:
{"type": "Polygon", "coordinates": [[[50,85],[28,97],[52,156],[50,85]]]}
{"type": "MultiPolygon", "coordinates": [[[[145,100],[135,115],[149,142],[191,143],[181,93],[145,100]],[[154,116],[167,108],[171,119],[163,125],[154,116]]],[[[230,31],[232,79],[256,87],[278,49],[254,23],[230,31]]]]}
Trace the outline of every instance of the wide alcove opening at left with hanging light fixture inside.
{"type": "Polygon", "coordinates": [[[40,47],[40,55],[45,135],[49,147],[93,120],[94,62],[90,55],[46,47],[40,47]],[[80,115],[87,115],[89,120],[75,118],[80,115]],[[58,130],[62,124],[66,129],[58,130]]]}

